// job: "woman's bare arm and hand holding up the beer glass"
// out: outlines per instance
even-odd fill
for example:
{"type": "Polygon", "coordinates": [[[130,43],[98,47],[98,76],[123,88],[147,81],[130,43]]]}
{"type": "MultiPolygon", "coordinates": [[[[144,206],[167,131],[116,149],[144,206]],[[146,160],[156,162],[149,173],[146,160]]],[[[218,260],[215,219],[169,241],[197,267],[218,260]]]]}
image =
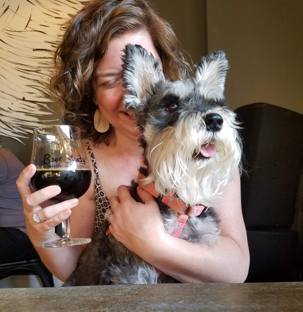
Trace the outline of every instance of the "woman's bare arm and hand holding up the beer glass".
{"type": "Polygon", "coordinates": [[[22,171],[17,180],[17,187],[22,195],[27,233],[46,267],[58,279],[65,281],[76,268],[78,258],[86,245],[42,248],[42,244],[60,238],[56,235],[54,227],[70,215],[71,236],[93,236],[96,213],[94,180],[90,183],[89,190],[79,200],[75,200],[75,202],[70,200],[50,205],[50,202],[47,200],[59,194],[61,190],[60,188],[55,188],[54,190],[49,186],[37,192],[33,191],[29,182],[35,171],[35,166],[29,165],[22,171]],[[44,222],[36,223],[32,218],[33,213],[42,207],[43,209],[39,212],[39,217],[44,222]],[[72,214],[71,208],[73,208],[72,214]]]}

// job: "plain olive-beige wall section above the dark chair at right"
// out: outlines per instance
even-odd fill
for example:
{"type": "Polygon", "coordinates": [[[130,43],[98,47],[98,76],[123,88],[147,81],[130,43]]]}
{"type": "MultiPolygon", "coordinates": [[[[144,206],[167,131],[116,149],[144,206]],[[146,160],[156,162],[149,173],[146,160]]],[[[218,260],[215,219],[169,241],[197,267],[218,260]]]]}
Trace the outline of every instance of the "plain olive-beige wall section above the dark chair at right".
{"type": "Polygon", "coordinates": [[[207,0],[208,52],[227,55],[232,109],[266,102],[303,114],[302,12],[302,0],[207,0]]]}

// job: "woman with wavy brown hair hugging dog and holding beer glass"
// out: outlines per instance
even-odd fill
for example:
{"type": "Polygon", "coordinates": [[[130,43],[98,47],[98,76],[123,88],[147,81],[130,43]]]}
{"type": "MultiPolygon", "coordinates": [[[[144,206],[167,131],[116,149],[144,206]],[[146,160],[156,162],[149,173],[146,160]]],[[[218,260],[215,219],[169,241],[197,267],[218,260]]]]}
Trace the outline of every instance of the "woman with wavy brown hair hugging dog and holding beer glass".
{"type": "MultiPolygon", "coordinates": [[[[99,168],[102,190],[95,193],[99,182],[93,180],[79,201],[49,205],[47,200],[60,189],[50,186],[32,191],[29,181],[35,167],[29,165],[17,182],[28,235],[49,270],[65,281],[85,246],[42,249],[42,244],[57,239],[54,226],[66,219],[73,207],[71,233],[75,237],[92,237],[104,213],[110,211],[110,230],[115,238],[181,282],[243,282],[249,254],[238,173],[222,189],[222,200],[215,207],[222,220],[222,237],[210,247],[168,235],[158,205],[143,189],[138,189],[143,204],[130,197],[127,185],[137,178],[142,150],[137,141],[139,130],[123,110],[120,56],[127,43],[139,44],[158,58],[166,79],[180,79],[186,71],[172,29],[144,0],[93,1],[78,12],[56,51],[57,72],[51,90],[65,105],[65,121],[81,128],[83,137],[91,139],[89,149],[99,168]],[[94,128],[94,115],[97,129],[105,132],[94,128]],[[32,216],[41,207],[45,207],[39,212],[43,222],[36,223],[32,216]]],[[[88,151],[87,158],[94,170],[88,151]]]]}

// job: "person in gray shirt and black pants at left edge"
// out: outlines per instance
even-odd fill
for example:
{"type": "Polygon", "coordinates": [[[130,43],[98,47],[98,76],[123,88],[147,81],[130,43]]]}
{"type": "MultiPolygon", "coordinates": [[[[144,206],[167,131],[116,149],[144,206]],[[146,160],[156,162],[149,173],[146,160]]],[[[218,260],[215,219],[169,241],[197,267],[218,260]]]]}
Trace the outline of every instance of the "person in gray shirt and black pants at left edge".
{"type": "Polygon", "coordinates": [[[26,232],[22,198],[16,181],[25,166],[0,147],[0,264],[37,259],[26,232]]]}

